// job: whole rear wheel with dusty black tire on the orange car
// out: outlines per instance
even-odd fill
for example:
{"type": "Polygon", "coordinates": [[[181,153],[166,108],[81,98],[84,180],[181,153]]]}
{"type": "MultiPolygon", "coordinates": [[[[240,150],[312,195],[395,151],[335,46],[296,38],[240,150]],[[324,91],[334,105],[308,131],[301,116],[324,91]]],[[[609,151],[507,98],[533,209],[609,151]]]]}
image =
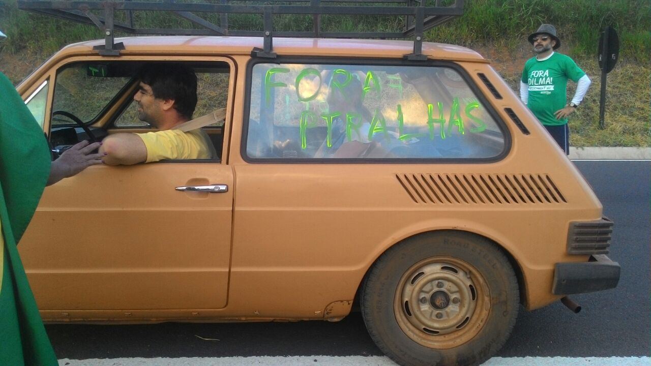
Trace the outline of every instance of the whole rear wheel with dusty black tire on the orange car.
{"type": "Polygon", "coordinates": [[[478,365],[516,323],[518,280],[490,240],[437,231],[383,253],[360,300],[368,333],[399,365],[478,365]]]}

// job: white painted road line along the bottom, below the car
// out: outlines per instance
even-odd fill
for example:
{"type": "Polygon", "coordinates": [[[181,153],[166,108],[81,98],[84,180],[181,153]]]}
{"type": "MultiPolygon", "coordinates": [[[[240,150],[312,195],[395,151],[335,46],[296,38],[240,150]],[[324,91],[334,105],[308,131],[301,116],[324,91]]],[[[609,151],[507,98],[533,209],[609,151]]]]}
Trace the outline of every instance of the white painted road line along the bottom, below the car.
{"type": "MultiPolygon", "coordinates": [[[[493,357],[484,366],[648,366],[649,357],[493,357]]],[[[395,366],[381,356],[59,359],[59,366],[395,366]]]]}

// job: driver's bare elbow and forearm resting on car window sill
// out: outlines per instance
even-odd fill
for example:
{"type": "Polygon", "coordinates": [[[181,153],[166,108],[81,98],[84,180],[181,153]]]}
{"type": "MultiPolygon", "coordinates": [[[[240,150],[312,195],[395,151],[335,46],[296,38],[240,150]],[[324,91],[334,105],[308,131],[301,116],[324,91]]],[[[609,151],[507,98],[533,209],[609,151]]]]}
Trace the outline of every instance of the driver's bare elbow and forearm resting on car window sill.
{"type": "Polygon", "coordinates": [[[147,148],[143,139],[135,134],[120,133],[107,136],[102,141],[100,153],[106,153],[107,165],[133,165],[147,160],[147,148]]]}

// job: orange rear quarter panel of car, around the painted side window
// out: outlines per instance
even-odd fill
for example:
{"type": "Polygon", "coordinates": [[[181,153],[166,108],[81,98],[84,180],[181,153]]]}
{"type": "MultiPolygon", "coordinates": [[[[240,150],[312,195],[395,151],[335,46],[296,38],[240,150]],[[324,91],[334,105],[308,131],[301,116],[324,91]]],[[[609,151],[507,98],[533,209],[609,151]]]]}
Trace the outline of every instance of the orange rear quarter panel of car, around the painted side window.
{"type": "MultiPolygon", "coordinates": [[[[601,205],[572,162],[490,65],[467,61],[459,64],[484,92],[512,137],[503,160],[427,164],[247,163],[239,154],[241,124],[234,123],[230,163],[236,172],[237,193],[229,307],[253,311],[248,306],[255,303],[249,300],[247,294],[251,294],[278,299],[262,310],[269,315],[300,313],[320,317],[328,303],[353,300],[368,268],[388,247],[421,232],[443,229],[474,232],[503,247],[517,263],[516,270],[524,281],[523,300],[529,309],[558,298],[551,294],[554,264],[586,260],[566,255],[568,224],[577,219],[601,218],[601,205]],[[503,99],[492,96],[478,79],[478,72],[489,77],[503,99]],[[529,135],[509,119],[505,107],[516,111],[529,135]],[[411,177],[411,183],[405,176],[411,177]],[[422,183],[422,176],[426,180],[439,176],[452,176],[453,180],[459,177],[462,181],[469,178],[470,184],[458,185],[462,191],[462,186],[470,190],[473,186],[479,191],[480,185],[486,188],[482,183],[472,183],[472,176],[479,181],[481,176],[487,181],[492,176],[497,182],[495,194],[499,196],[503,189],[507,199],[482,203],[475,197],[477,203],[470,199],[443,199],[441,203],[422,183]],[[512,179],[515,187],[505,183],[510,193],[497,176],[512,179]],[[527,188],[521,176],[538,178],[540,186],[528,180],[531,189],[527,188]],[[540,179],[553,183],[543,186],[540,179]],[[419,182],[425,188],[416,190],[424,201],[410,186],[418,186],[419,182]],[[542,190],[544,195],[536,197],[532,190],[542,190]],[[552,193],[547,194],[548,190],[552,193]],[[424,191],[430,192],[434,202],[424,191]],[[509,195],[517,197],[514,200],[509,195]],[[559,198],[558,202],[554,197],[559,198]]],[[[452,186],[450,189],[455,190],[452,186]]],[[[476,196],[472,191],[470,195],[476,196]]],[[[486,195],[492,197],[488,191],[486,195]]]]}

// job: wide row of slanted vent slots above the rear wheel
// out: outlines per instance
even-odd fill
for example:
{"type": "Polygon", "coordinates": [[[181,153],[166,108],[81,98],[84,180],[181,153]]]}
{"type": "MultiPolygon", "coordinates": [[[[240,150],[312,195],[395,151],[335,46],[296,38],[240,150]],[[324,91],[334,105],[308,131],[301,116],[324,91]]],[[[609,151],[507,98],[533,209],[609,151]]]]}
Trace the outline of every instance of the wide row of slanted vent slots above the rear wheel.
{"type": "Polygon", "coordinates": [[[567,203],[546,174],[396,174],[414,203],[567,203]]]}

